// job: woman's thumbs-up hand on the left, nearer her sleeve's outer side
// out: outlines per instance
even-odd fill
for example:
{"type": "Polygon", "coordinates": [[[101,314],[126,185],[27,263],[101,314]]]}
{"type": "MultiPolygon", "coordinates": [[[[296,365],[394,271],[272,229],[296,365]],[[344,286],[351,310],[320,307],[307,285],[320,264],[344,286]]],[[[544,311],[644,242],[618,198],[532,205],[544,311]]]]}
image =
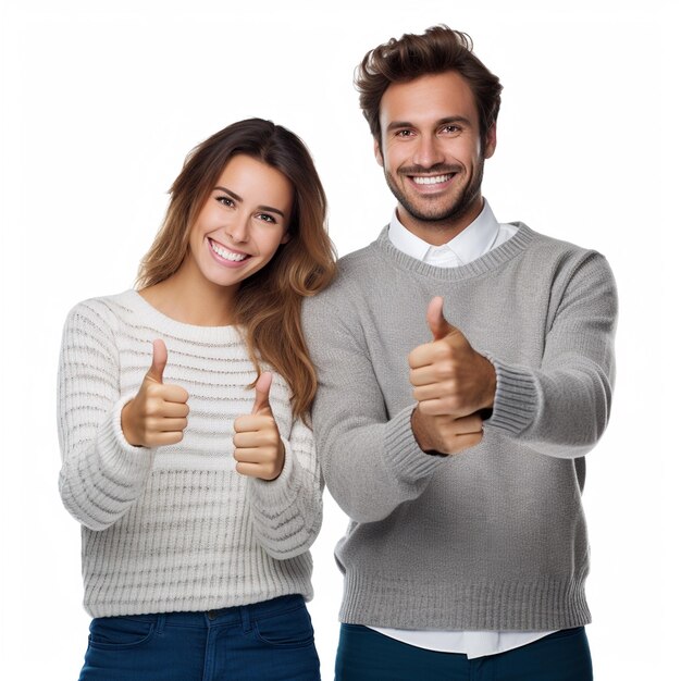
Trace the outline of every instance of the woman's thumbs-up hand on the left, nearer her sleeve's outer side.
{"type": "Polygon", "coordinates": [[[163,383],[168,349],[163,340],[153,342],[151,367],[137,395],[121,410],[125,439],[136,447],[174,445],[187,428],[189,394],[178,385],[163,383]]]}

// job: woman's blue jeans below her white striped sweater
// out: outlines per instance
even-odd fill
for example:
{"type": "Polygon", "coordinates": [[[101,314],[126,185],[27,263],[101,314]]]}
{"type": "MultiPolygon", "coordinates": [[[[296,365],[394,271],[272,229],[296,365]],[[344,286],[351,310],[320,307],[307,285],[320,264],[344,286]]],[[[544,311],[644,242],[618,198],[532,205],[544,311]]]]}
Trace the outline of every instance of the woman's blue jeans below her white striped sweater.
{"type": "Polygon", "coordinates": [[[319,681],[302,596],[208,612],[100,617],[79,681],[319,681]]]}

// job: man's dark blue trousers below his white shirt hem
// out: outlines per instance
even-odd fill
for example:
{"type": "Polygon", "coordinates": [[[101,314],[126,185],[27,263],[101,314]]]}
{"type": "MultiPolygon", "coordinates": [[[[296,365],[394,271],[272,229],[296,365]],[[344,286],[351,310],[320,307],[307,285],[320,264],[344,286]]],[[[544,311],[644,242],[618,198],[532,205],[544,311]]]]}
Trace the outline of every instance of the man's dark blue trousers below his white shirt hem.
{"type": "Polygon", "coordinates": [[[360,624],[342,624],[336,681],[592,681],[583,627],[506,653],[468,659],[401,643],[360,624]]]}

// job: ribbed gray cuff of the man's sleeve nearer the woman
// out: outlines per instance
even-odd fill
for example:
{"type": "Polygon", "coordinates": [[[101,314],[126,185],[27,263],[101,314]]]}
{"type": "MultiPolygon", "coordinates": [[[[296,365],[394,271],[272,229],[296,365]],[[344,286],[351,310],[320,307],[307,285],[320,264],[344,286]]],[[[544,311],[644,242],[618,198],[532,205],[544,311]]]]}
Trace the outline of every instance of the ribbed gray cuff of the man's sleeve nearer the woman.
{"type": "Polygon", "coordinates": [[[413,409],[411,405],[398,411],[385,429],[384,455],[398,476],[406,482],[430,475],[447,460],[447,457],[425,454],[419,447],[411,430],[413,409]]]}

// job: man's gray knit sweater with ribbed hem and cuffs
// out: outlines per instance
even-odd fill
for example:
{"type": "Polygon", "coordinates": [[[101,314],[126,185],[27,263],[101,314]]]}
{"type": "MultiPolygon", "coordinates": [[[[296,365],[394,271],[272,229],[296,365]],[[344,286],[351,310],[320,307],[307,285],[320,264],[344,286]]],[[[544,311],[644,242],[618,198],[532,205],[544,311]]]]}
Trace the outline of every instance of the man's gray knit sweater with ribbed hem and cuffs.
{"type": "Polygon", "coordinates": [[[397,250],[385,228],[307,300],[325,482],[350,517],[336,547],[344,622],[549,631],[590,621],[584,455],[610,411],[617,297],[604,258],[519,224],[456,269],[397,250]],[[426,455],[410,428],[407,356],[445,317],[497,372],[483,442],[426,455]]]}

